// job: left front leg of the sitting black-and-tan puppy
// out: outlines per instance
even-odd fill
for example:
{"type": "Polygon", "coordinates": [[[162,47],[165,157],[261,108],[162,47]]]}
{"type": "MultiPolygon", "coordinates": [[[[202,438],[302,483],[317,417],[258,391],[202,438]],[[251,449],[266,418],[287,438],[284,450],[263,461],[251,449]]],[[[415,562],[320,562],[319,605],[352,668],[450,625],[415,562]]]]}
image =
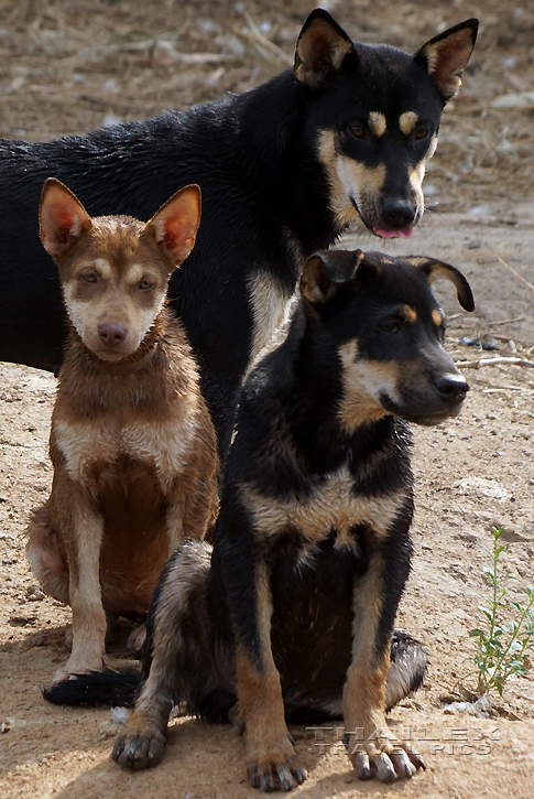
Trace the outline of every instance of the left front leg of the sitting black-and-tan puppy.
{"type": "Polygon", "coordinates": [[[249,782],[264,791],[291,790],[303,782],[306,770],[298,764],[284,717],[280,674],[271,649],[272,597],[266,564],[248,570],[253,581],[244,603],[243,585],[228,581],[229,603],[237,639],[238,706],[246,730],[249,782]],[[251,575],[253,573],[253,576],[251,575]]]}

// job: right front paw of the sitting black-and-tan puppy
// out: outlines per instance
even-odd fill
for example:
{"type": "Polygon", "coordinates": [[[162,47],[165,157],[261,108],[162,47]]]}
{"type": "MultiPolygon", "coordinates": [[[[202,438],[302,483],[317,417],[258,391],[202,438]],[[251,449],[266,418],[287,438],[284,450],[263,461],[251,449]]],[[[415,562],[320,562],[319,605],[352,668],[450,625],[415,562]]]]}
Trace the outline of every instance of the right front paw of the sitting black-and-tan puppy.
{"type": "Polygon", "coordinates": [[[362,743],[351,735],[347,748],[358,779],[375,777],[381,782],[394,782],[413,777],[418,768],[426,768],[421,755],[407,742],[389,736],[382,743],[380,738],[362,743]]]}

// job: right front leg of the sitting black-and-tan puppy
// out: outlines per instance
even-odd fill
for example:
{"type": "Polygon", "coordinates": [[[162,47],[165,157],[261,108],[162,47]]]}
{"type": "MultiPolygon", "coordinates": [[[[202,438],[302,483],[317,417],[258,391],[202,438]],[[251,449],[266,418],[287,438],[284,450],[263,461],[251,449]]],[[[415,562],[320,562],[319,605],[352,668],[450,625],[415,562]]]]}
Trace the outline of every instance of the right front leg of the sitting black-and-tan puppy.
{"type": "Polygon", "coordinates": [[[385,616],[391,617],[392,626],[402,585],[395,592],[396,597],[384,597],[384,571],[383,555],[378,551],[355,587],[352,661],[347,671],[342,708],[347,748],[357,776],[392,782],[399,777],[412,777],[424,764],[407,742],[395,737],[385,722],[391,630],[384,630],[384,623],[389,626],[385,616]],[[391,607],[384,607],[390,602],[393,613],[391,607]]]}

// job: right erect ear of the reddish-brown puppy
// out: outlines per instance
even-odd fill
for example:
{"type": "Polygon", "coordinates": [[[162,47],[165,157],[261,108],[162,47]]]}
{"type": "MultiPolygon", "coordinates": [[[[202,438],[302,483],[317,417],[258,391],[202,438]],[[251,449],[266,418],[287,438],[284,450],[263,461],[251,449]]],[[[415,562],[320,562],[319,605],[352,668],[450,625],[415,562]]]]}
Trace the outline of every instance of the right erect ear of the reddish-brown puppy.
{"type": "Polygon", "coordinates": [[[200,224],[200,188],[196,183],[181,188],[156,210],[144,231],[152,236],[171,267],[185,261],[195,245],[200,224]]]}

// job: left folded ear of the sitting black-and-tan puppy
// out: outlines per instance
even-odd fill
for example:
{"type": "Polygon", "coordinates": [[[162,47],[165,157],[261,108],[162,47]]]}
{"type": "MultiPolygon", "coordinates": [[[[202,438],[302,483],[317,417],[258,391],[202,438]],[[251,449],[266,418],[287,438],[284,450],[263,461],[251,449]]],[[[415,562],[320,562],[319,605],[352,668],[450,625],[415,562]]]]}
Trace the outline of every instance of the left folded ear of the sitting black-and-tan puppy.
{"type": "Polygon", "coordinates": [[[316,307],[324,305],[341,285],[352,280],[362,260],[361,250],[317,252],[304,264],[301,294],[316,307]]]}

